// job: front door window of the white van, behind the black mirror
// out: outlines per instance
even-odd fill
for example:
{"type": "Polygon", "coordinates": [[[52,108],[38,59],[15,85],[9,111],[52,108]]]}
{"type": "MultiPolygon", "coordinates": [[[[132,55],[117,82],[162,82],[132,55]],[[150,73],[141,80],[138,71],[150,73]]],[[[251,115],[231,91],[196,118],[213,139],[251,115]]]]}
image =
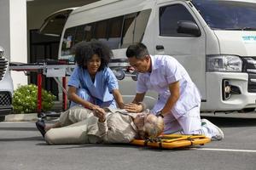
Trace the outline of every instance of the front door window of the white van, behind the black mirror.
{"type": "Polygon", "coordinates": [[[164,37],[189,37],[187,34],[177,33],[177,21],[194,21],[193,16],[182,4],[160,7],[160,36],[164,37]]]}

